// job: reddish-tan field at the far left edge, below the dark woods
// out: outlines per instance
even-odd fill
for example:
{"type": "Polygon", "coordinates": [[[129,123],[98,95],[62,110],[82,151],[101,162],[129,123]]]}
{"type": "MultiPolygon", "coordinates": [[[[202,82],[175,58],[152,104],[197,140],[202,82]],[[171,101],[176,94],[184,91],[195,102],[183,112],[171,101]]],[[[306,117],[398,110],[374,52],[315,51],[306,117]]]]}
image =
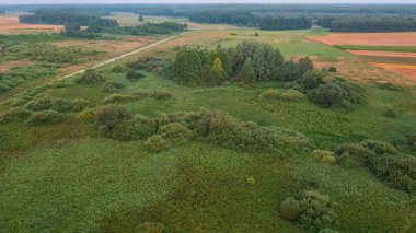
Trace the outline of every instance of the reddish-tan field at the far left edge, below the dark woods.
{"type": "Polygon", "coordinates": [[[57,33],[60,32],[62,28],[62,25],[19,23],[19,16],[0,16],[0,34],[21,34],[35,32],[57,33]]]}

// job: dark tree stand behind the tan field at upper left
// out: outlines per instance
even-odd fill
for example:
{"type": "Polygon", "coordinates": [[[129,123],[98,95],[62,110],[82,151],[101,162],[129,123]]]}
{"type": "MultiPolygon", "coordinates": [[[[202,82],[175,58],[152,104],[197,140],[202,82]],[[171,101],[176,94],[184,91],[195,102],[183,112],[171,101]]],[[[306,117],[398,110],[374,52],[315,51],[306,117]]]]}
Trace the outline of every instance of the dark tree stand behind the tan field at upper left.
{"type": "Polygon", "coordinates": [[[77,24],[80,26],[103,26],[115,27],[118,26],[117,21],[109,19],[102,19],[95,14],[77,13],[72,11],[36,11],[34,14],[20,15],[21,23],[33,24],[77,24]]]}

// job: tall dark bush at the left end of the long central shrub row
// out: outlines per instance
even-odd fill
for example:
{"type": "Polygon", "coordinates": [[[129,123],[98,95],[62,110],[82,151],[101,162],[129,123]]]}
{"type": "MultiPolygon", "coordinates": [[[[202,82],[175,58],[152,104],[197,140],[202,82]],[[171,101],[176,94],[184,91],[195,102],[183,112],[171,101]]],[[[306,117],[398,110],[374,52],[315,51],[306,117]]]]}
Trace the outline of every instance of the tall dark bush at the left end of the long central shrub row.
{"type": "Polygon", "coordinates": [[[131,113],[122,106],[103,106],[95,112],[95,127],[102,136],[114,138],[114,131],[127,120],[131,119],[131,113]]]}

